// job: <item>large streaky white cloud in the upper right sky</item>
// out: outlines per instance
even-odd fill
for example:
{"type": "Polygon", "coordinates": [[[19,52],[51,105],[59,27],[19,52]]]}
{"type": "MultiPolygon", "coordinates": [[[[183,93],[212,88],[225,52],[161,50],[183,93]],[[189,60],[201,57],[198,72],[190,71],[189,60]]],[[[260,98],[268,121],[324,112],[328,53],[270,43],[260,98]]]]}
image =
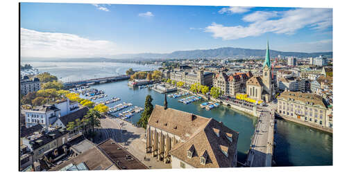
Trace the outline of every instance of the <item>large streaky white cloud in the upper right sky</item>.
{"type": "Polygon", "coordinates": [[[205,32],[212,33],[215,38],[239,39],[255,37],[264,33],[293,35],[297,30],[308,27],[312,30],[325,30],[332,26],[332,9],[299,8],[282,12],[253,12],[243,18],[251,22],[248,26],[223,26],[212,23],[205,32]],[[271,19],[278,17],[278,19],[271,19]]]}

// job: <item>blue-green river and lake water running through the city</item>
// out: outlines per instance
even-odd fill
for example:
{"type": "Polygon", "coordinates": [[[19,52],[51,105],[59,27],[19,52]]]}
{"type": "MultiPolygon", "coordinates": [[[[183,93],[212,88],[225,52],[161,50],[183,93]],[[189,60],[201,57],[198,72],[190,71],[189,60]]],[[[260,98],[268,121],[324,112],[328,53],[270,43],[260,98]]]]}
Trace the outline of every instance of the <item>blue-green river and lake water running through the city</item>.
{"type": "MultiPolygon", "coordinates": [[[[124,74],[129,68],[133,68],[134,71],[146,71],[158,67],[109,62],[22,62],[22,64],[31,64],[42,72],[58,76],[64,82],[124,74]]],[[[152,96],[153,105],[163,105],[164,102],[163,94],[151,89],[131,89],[127,86],[127,81],[99,84],[92,88],[101,89],[108,95],[107,98],[96,100],[96,102],[119,97],[121,98],[119,102],[131,102],[133,106],[144,107],[146,95],[152,96]]],[[[182,104],[178,102],[178,98],[167,98],[167,101],[168,107],[206,118],[214,118],[222,121],[230,129],[239,131],[238,160],[245,161],[257,118],[225,106],[205,111],[198,106],[203,101],[191,104],[182,104]]],[[[108,106],[112,107],[119,102],[108,104],[108,106]]],[[[137,113],[129,120],[137,122],[139,116],[140,114],[137,113]]],[[[332,134],[286,120],[278,120],[276,130],[275,142],[277,145],[274,149],[274,160],[278,166],[332,165],[332,134]]]]}

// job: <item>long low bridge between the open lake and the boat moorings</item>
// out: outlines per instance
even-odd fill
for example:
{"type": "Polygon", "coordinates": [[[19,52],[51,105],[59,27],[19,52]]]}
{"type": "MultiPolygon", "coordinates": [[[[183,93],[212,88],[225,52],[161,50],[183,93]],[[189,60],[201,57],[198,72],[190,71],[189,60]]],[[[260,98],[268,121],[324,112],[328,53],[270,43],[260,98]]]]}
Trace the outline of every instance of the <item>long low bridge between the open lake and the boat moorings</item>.
{"type": "Polygon", "coordinates": [[[118,75],[118,76],[107,77],[107,78],[95,78],[95,79],[90,79],[90,80],[78,80],[78,81],[74,81],[74,82],[65,82],[65,83],[63,83],[63,85],[66,89],[69,89],[69,88],[73,88],[75,86],[80,86],[80,85],[116,82],[119,80],[128,80],[129,78],[130,78],[130,75],[118,75]]]}

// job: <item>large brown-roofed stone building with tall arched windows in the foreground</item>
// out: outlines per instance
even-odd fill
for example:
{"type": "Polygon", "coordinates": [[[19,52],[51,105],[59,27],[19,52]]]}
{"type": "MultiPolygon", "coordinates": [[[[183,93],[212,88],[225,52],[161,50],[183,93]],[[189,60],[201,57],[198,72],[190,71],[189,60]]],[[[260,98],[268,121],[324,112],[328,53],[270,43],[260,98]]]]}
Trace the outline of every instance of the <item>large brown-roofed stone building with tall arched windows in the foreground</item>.
{"type": "Polygon", "coordinates": [[[155,105],[146,127],[146,153],[172,168],[236,167],[238,137],[213,118],[155,105]]]}

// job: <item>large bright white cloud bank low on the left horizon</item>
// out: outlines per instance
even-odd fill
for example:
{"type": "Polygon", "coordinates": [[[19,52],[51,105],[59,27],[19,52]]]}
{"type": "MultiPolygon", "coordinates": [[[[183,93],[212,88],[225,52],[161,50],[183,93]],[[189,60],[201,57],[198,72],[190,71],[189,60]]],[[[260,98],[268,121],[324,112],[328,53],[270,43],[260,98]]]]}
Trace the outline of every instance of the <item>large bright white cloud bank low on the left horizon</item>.
{"type": "Polygon", "coordinates": [[[22,57],[111,57],[117,45],[66,33],[43,33],[21,28],[22,57]]]}

